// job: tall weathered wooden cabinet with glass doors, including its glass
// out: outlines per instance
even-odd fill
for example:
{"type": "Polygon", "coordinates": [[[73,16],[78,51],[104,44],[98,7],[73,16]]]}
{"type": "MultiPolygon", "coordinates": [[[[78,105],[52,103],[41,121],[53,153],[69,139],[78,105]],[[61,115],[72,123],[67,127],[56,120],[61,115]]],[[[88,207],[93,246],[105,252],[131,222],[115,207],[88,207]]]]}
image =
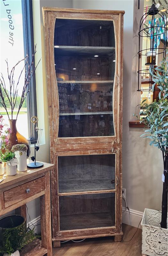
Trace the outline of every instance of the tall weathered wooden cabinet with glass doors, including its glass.
{"type": "Polygon", "coordinates": [[[122,235],[124,11],[43,7],[52,240],[122,235]]]}

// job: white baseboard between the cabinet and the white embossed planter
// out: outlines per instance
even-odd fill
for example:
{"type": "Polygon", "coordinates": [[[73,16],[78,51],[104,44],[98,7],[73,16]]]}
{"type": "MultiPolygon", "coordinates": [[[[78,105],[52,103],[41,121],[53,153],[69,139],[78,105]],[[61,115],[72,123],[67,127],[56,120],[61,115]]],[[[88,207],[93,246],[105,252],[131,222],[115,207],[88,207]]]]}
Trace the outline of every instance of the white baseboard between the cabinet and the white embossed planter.
{"type": "MultiPolygon", "coordinates": [[[[123,211],[125,211],[124,207],[123,207],[123,211]]],[[[129,214],[128,209],[126,209],[126,211],[123,212],[122,214],[122,222],[127,225],[138,228],[138,225],[141,222],[142,217],[143,217],[143,212],[130,209],[130,214],[129,214]]],[[[141,225],[139,225],[139,228],[141,228],[141,225]]]]}

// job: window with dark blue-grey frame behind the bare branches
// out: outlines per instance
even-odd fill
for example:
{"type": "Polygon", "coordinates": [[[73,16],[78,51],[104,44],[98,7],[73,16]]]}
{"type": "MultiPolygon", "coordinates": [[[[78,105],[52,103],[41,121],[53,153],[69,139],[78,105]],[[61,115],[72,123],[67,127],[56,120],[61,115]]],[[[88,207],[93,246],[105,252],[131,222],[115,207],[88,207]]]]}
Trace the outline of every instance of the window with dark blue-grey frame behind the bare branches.
{"type": "MultiPolygon", "coordinates": [[[[9,70],[23,59],[26,54],[32,56],[34,52],[33,40],[33,15],[32,1],[26,0],[3,0],[1,4],[1,72],[5,80],[7,77],[7,67],[5,60],[8,59],[9,70]]],[[[18,65],[15,70],[16,80],[20,75],[20,70],[23,67],[23,62],[18,65]]],[[[20,77],[18,87],[18,98],[16,102],[16,110],[14,111],[13,119],[16,118],[16,111],[19,106],[19,99],[22,92],[21,82],[24,81],[24,76],[20,77]]],[[[8,86],[8,85],[6,85],[8,86]]],[[[34,133],[31,128],[31,116],[37,115],[36,110],[36,81],[35,76],[31,80],[30,92],[20,109],[17,118],[17,129],[24,137],[33,138],[34,133]]],[[[10,108],[9,108],[10,112],[10,108]]],[[[4,116],[5,123],[8,124],[8,116],[2,106],[0,106],[0,114],[4,116]]]]}

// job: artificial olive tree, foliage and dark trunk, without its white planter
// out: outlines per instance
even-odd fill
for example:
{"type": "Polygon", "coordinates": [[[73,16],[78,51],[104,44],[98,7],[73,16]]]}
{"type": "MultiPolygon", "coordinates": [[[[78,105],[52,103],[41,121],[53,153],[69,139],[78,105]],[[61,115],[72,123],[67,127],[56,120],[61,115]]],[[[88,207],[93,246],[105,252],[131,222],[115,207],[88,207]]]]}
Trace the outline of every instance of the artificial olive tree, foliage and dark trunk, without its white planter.
{"type": "MultiPolygon", "coordinates": [[[[160,90],[158,100],[151,104],[141,103],[140,123],[146,124],[148,128],[141,136],[149,138],[150,145],[153,145],[162,151],[164,175],[163,175],[163,195],[162,195],[162,219],[161,228],[167,228],[167,200],[168,200],[168,60],[166,58],[161,62],[161,66],[155,70],[150,69],[153,77],[154,87],[160,90]]],[[[137,116],[138,117],[138,116],[137,116]]]]}

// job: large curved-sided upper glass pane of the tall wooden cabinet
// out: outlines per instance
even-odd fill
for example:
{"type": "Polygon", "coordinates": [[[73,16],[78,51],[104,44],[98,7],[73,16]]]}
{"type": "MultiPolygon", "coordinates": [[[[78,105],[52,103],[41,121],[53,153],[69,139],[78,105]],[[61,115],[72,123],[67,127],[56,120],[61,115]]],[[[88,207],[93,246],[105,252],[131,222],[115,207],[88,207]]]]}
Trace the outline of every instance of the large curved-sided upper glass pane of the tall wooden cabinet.
{"type": "Polygon", "coordinates": [[[58,136],[114,136],[113,21],[56,19],[54,47],[58,136]]]}

